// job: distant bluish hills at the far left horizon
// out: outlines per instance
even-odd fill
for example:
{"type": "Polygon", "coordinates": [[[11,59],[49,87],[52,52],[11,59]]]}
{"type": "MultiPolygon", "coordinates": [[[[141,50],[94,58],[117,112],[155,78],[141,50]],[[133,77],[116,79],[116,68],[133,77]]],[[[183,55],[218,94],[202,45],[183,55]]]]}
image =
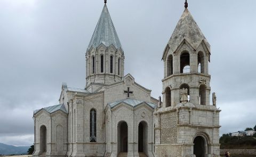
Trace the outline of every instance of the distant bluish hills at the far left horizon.
{"type": "Polygon", "coordinates": [[[13,146],[0,143],[0,154],[27,154],[29,146],[13,146]]]}

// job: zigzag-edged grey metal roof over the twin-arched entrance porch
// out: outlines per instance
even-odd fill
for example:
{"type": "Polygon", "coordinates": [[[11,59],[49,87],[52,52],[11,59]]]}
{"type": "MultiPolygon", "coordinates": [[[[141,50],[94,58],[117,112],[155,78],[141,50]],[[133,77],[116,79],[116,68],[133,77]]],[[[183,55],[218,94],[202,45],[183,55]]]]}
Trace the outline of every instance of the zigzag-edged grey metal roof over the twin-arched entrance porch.
{"type": "Polygon", "coordinates": [[[133,108],[135,106],[138,106],[138,105],[142,104],[142,103],[145,103],[145,104],[149,105],[153,109],[155,109],[155,107],[156,107],[156,104],[154,104],[154,103],[148,103],[148,102],[145,102],[145,101],[135,100],[135,99],[132,99],[132,98],[126,98],[125,100],[120,100],[120,101],[116,101],[116,102],[113,102],[113,103],[108,103],[108,105],[110,106],[110,108],[114,108],[116,105],[121,104],[121,103],[128,104],[128,105],[132,106],[133,108]]]}

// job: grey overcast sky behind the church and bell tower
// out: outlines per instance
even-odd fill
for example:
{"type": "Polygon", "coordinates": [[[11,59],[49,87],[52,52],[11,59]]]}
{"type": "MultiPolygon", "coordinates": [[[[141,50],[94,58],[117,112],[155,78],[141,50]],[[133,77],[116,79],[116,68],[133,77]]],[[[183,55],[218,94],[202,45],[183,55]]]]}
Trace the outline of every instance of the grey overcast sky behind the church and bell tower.
{"type": "MultiPolygon", "coordinates": [[[[163,50],[181,0],[108,0],[125,74],[162,95],[163,50]]],[[[188,0],[211,44],[211,92],[220,134],[256,125],[256,1],[188,0]]],[[[33,110],[57,105],[62,82],[85,87],[85,52],[103,0],[0,0],[0,143],[34,142],[33,110]]]]}

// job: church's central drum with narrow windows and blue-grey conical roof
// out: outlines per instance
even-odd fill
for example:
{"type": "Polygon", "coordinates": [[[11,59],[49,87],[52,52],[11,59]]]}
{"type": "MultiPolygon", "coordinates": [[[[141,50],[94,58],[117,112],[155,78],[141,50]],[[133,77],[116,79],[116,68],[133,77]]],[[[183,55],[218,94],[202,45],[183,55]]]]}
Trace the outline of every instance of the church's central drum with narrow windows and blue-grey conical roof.
{"type": "Polygon", "coordinates": [[[86,51],[86,89],[90,91],[124,76],[124,51],[106,3],[86,51]]]}

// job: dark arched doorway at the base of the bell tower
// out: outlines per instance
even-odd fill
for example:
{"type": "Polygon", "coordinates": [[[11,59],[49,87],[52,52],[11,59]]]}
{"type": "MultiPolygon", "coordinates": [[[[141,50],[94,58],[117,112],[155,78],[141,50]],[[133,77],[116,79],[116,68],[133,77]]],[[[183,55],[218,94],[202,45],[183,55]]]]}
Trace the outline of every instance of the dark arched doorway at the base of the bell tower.
{"type": "Polygon", "coordinates": [[[205,140],[202,136],[197,136],[194,139],[194,154],[196,157],[204,157],[205,156],[205,140]]]}

